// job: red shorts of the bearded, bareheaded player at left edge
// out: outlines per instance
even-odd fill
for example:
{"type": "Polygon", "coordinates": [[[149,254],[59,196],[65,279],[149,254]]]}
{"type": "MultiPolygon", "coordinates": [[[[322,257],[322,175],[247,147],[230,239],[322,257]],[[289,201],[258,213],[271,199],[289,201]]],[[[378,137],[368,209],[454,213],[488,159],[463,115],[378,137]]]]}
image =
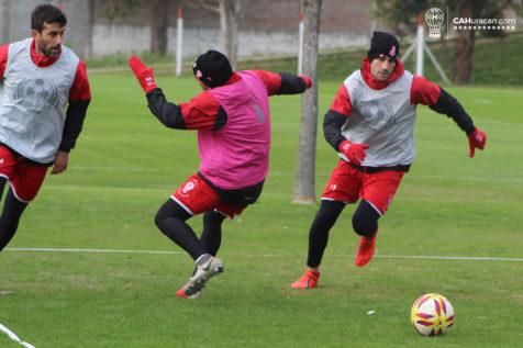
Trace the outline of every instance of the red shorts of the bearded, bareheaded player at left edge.
{"type": "Polygon", "coordinates": [[[46,172],[47,166],[29,164],[24,157],[0,145],[0,177],[9,180],[19,201],[29,203],[34,200],[46,172]]]}

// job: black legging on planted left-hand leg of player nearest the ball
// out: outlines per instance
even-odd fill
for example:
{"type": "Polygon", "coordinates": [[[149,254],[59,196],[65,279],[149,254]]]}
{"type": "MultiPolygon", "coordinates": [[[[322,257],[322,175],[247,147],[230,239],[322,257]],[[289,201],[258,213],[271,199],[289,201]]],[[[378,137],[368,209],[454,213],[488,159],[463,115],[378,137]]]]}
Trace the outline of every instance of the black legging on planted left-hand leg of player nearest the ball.
{"type": "Polygon", "coordinates": [[[345,203],[338,201],[322,200],[320,210],[314,216],[309,231],[309,255],[307,266],[320,266],[329,242],[329,232],[345,207],[345,203]]]}

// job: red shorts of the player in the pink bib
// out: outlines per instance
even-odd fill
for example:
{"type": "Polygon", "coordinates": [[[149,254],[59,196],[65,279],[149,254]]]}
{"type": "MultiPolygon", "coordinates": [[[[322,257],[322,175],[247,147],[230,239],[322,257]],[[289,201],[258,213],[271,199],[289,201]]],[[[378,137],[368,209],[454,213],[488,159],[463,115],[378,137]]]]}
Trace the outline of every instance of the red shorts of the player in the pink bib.
{"type": "Polygon", "coordinates": [[[223,203],[218,193],[197,173],[187,179],[170,198],[191,215],[215,210],[234,218],[247,206],[223,203]]]}

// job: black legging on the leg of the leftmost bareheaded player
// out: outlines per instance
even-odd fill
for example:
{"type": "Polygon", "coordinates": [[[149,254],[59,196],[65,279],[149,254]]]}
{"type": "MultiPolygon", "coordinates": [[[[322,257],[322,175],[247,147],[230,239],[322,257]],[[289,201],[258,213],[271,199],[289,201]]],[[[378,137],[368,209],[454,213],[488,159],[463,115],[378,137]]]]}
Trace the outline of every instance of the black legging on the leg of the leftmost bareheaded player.
{"type": "MultiPolygon", "coordinates": [[[[2,198],[3,189],[5,188],[7,179],[0,177],[0,199],[2,198]]],[[[13,193],[13,189],[10,188],[5,202],[3,203],[2,215],[0,216],[0,251],[9,244],[14,236],[19,226],[20,217],[23,211],[27,206],[27,203],[19,201],[13,193]]]]}

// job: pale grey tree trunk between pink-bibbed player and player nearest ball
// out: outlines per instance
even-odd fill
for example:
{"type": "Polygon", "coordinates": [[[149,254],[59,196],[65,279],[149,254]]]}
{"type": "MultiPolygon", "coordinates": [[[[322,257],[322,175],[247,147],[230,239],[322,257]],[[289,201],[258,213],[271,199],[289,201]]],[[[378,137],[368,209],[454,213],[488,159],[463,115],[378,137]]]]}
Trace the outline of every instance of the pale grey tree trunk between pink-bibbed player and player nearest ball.
{"type": "Polygon", "coordinates": [[[300,141],[294,176],[294,203],[315,203],[314,176],[318,131],[318,47],[322,0],[303,0],[303,75],[312,88],[302,98],[300,141]]]}

